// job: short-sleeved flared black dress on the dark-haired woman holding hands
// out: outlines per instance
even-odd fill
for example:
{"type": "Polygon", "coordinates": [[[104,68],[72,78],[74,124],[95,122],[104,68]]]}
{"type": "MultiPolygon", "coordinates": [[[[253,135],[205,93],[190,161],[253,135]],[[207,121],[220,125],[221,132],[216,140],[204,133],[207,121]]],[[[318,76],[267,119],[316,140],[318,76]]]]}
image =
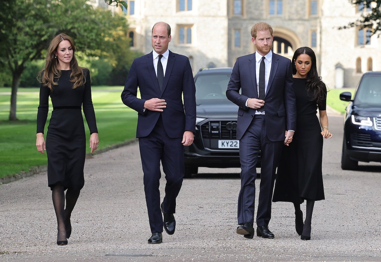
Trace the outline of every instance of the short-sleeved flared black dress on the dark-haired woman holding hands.
{"type": "Polygon", "coordinates": [[[318,107],[307,93],[306,79],[293,78],[293,81],[296,130],[293,141],[282,148],[272,201],[323,200],[323,137],[316,113],[318,108],[326,110],[326,99],[318,107]]]}

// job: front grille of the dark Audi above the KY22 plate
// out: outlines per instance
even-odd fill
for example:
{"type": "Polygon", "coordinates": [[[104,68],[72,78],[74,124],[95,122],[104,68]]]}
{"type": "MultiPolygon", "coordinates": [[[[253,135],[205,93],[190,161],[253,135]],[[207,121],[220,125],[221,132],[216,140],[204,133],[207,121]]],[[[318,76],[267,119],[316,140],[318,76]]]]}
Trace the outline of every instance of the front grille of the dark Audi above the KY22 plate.
{"type": "Polygon", "coordinates": [[[237,121],[208,121],[201,125],[204,139],[236,139],[237,121]]]}

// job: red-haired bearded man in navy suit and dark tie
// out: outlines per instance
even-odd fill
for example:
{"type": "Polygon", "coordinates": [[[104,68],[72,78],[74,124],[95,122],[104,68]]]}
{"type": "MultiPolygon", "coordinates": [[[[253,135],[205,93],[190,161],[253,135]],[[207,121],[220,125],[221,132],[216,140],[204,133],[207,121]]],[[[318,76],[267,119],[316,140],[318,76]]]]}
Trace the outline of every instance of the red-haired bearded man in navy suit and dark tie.
{"type": "Polygon", "coordinates": [[[272,27],[257,23],[251,28],[251,37],[256,52],[237,58],[226,91],[227,98],[239,106],[241,190],[237,233],[246,238],[254,236],[256,165],[261,151],[256,233],[259,237],[274,238],[268,227],[271,196],[282,144],[291,142],[295,130],[295,94],[290,59],[271,51],[272,27]]]}

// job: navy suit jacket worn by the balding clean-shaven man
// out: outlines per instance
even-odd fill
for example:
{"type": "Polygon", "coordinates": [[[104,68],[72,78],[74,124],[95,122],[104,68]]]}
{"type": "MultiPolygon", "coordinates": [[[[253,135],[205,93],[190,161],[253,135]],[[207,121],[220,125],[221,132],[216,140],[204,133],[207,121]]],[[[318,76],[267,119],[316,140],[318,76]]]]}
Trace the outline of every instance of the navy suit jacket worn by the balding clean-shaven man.
{"type": "Polygon", "coordinates": [[[138,111],[137,138],[146,137],[152,132],[160,114],[169,137],[181,138],[186,130],[195,132],[195,85],[186,56],[169,52],[162,91],[157,81],[152,52],[134,59],[121,97],[126,106],[138,111]],[[141,98],[136,97],[138,87],[141,98]],[[167,104],[163,112],[143,111],[144,102],[151,98],[165,99],[167,104]]]}

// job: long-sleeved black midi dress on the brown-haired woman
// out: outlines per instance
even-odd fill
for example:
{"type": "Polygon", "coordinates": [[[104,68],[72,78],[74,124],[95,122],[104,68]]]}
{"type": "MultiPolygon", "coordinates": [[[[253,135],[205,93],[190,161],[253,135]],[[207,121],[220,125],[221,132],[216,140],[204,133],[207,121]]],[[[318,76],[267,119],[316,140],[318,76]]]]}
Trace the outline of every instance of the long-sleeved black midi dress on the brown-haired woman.
{"type": "Polygon", "coordinates": [[[82,110],[90,133],[98,133],[93,102],[91,100],[90,72],[83,69],[85,84],[72,89],[71,70],[61,70],[58,83],[49,87],[40,85],[40,105],[37,113],[37,133],[43,133],[49,110],[49,96],[53,111],[46,133],[48,156],[48,186],[61,182],[65,189],[80,190],[85,184],[86,135],[82,110]]]}

